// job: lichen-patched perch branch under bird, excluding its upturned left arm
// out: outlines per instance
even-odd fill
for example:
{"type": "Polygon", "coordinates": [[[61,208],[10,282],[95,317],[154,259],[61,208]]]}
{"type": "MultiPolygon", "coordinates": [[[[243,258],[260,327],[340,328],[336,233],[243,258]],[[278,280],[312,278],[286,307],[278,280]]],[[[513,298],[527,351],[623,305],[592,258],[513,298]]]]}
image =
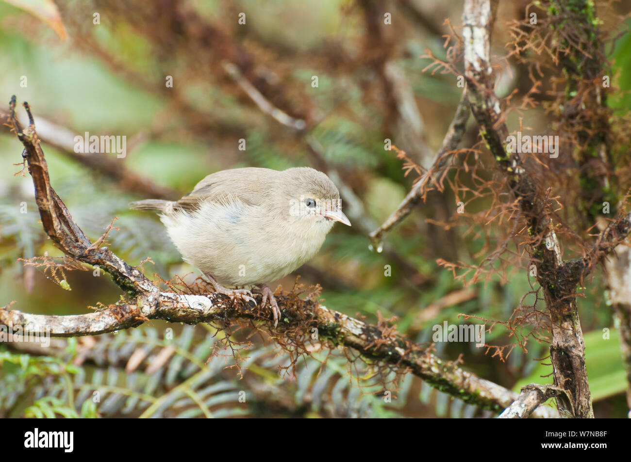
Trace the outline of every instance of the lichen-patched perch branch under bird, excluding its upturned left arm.
{"type": "MultiPolygon", "coordinates": [[[[257,294],[257,301],[260,295],[257,294]]],[[[295,319],[288,297],[276,296],[283,318],[295,319]]],[[[370,361],[381,361],[408,370],[431,386],[456,396],[469,404],[499,412],[517,399],[517,393],[464,371],[456,362],[442,361],[429,349],[423,349],[408,338],[378,326],[368,325],[350,316],[333,311],[315,301],[304,301],[302,315],[309,317],[312,328],[317,328],[319,338],[332,345],[341,345],[359,352],[370,361]]],[[[299,316],[299,315],[298,315],[299,316]]],[[[138,297],[136,304],[124,304],[113,308],[72,316],[30,315],[18,310],[0,308],[0,323],[21,326],[25,332],[48,332],[52,337],[76,337],[98,335],[136,327],[146,320],[160,319],[169,322],[196,324],[218,320],[259,321],[271,329],[272,322],[262,312],[251,307],[235,308],[222,294],[194,296],[161,292],[156,299],[138,297]]],[[[286,327],[285,327],[286,328],[286,327]]],[[[283,335],[279,323],[278,335],[283,335]]],[[[536,417],[557,417],[551,408],[542,408],[536,417]]]]}

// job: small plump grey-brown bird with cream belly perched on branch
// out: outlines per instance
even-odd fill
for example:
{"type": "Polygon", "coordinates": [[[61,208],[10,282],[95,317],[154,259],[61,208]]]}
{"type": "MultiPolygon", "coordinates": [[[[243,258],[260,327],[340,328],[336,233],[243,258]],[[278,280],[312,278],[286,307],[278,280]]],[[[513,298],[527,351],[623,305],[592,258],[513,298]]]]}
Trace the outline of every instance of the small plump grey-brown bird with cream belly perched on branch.
{"type": "Polygon", "coordinates": [[[336,185],[309,167],[217,171],[179,200],[146,199],[129,207],[160,212],[183,260],[216,292],[246,301],[254,301],[252,291],[260,292],[262,306],[271,306],[274,328],[281,312],[268,284],[314,257],[334,222],[351,226],[336,185]]]}

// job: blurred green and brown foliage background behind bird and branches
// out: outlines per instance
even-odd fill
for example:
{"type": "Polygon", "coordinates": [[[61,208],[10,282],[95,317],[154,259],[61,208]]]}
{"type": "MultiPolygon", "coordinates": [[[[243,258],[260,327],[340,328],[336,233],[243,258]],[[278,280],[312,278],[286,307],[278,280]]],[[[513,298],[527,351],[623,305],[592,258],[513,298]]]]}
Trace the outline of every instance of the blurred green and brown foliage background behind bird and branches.
{"type": "MultiPolygon", "coordinates": [[[[523,20],[527,4],[501,3],[495,54],[507,53],[507,24],[523,20]]],[[[601,17],[603,30],[620,34],[606,53],[615,88],[610,105],[621,113],[631,102],[630,23],[624,20],[630,8],[613,3],[601,17]]],[[[112,251],[131,265],[150,257],[154,264],[144,263],[146,274],[164,279],[197,273],[181,262],[158,217],[129,211],[128,202],[177,199],[204,176],[227,168],[325,171],[338,184],[353,227],[336,226],[314,260],[280,281],[283,289],[292,289],[300,275],[302,284],[321,284],[328,308],[369,322],[377,313],[396,316],[399,332],[431,342],[432,326],[465,322],[459,313],[509,320],[533,282],[519,252],[479,280],[454,278],[437,263],[480,265],[504,236],[502,228],[512,226],[473,218],[492,206],[492,197],[456,194],[447,183],[386,235],[382,251],[369,248],[370,231],[417,178],[384,149],[386,139],[427,168],[454,115],[463,91],[456,76],[424,71],[432,59],[422,56],[429,50],[462,69],[445,48],[454,44],[445,40],[451,27],[461,32],[462,9],[462,1],[433,0],[0,1],[0,110],[6,111],[11,95],[30,103],[51,183],[83,231],[96,240],[117,217],[118,229],[109,235],[112,251]],[[126,156],[75,153],[73,137],[85,132],[126,136],[126,156]],[[463,199],[466,214],[459,217],[456,204],[463,199]]],[[[495,64],[499,96],[528,93],[528,69],[510,59],[495,64]]],[[[545,100],[545,91],[539,97],[545,100]]],[[[518,126],[519,117],[534,130],[550,125],[543,106],[510,112],[509,126],[518,126]]],[[[461,147],[476,142],[478,129],[469,120],[461,147]]],[[[114,303],[120,291],[107,275],[95,277],[93,269],[51,274],[18,261],[60,255],[39,222],[30,176],[17,165],[21,150],[2,127],[0,305],[16,301],[11,308],[64,315],[114,303]]],[[[492,165],[488,154],[481,159],[492,165]]],[[[460,166],[468,162],[476,159],[463,158],[460,166]]],[[[493,175],[491,168],[477,173],[493,175]]],[[[455,175],[449,171],[447,178],[455,175]]],[[[466,171],[458,175],[475,187],[466,171]]],[[[624,417],[628,385],[600,271],[589,287],[579,311],[594,411],[596,417],[624,417]],[[610,338],[603,339],[603,328],[610,328],[610,338]]],[[[519,391],[522,384],[551,383],[549,362],[536,361],[548,355],[546,332],[531,336],[535,328],[520,331],[528,340],[521,348],[507,329],[495,326],[486,341],[509,345],[502,354],[473,343],[439,342],[435,349],[443,359],[463,355],[465,369],[519,391]]],[[[155,321],[116,335],[57,339],[42,351],[0,345],[0,416],[493,415],[411,375],[386,402],[373,394],[379,385],[362,382],[340,352],[325,365],[320,361],[326,352],[314,352],[301,362],[297,378],[279,374],[288,360],[259,338],[252,340],[241,379],[238,369],[226,368],[230,357],[204,364],[214,332],[155,321]],[[242,390],[249,396],[245,405],[236,393],[242,390]]]]}

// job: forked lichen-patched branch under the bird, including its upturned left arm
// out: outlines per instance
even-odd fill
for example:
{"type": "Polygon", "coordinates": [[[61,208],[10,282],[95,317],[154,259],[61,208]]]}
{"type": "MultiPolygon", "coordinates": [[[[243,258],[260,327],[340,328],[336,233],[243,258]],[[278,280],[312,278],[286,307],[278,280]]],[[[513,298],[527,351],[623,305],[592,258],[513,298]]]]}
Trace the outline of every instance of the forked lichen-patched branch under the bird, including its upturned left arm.
{"type": "MultiPolygon", "coordinates": [[[[243,305],[223,294],[182,294],[164,292],[138,269],[130,267],[109,249],[99,248],[86,238],[50,186],[42,151],[28,104],[25,108],[30,124],[22,129],[15,117],[15,96],[11,98],[11,123],[25,147],[24,157],[35,185],[35,197],[44,230],[66,255],[80,262],[98,264],[107,270],[114,282],[126,293],[124,301],[102,311],[74,316],[47,316],[21,313],[0,308],[0,323],[21,326],[26,332],[50,332],[53,337],[74,337],[115,332],[141,325],[151,319],[196,324],[204,321],[256,321],[268,328],[273,337],[298,340],[317,328],[319,338],[331,345],[356,350],[369,361],[411,371],[428,384],[457,396],[468,403],[499,412],[516,399],[516,393],[463,371],[457,362],[444,362],[428,348],[422,348],[394,328],[372,326],[327,309],[312,299],[299,299],[297,294],[276,296],[281,307],[281,323],[273,328],[269,312],[260,306],[243,305]],[[298,333],[296,332],[298,331],[298,333]],[[297,337],[299,335],[300,337],[297,337]]],[[[189,287],[190,289],[190,287],[189,287]]],[[[257,301],[261,302],[261,295],[257,301]]],[[[539,417],[550,417],[541,411],[539,417]]]]}

